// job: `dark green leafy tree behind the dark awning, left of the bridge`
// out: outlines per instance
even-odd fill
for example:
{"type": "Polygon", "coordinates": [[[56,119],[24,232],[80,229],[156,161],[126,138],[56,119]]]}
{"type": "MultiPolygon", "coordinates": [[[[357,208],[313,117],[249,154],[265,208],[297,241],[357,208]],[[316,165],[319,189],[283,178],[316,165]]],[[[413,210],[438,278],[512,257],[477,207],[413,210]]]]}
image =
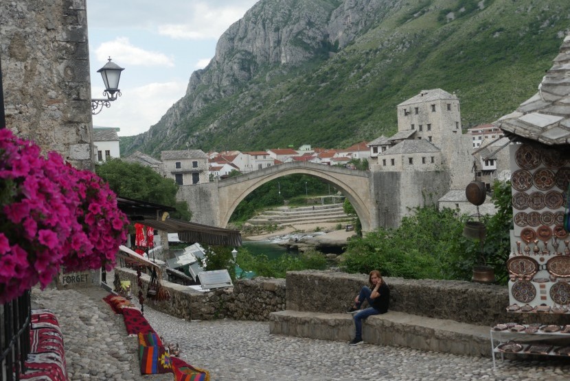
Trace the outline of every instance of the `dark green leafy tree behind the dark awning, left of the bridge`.
{"type": "Polygon", "coordinates": [[[186,201],[176,201],[178,184],[141,164],[124,162],[121,159],[107,160],[95,167],[95,173],[109,183],[109,187],[119,197],[149,201],[155,204],[172,206],[174,218],[190,221],[192,214],[186,201]]]}

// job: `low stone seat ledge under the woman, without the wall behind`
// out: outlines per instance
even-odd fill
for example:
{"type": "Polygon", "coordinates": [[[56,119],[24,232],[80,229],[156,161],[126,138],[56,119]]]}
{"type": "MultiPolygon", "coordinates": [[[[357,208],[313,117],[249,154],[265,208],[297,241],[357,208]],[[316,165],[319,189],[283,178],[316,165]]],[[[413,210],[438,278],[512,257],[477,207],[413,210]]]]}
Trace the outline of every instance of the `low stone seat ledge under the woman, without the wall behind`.
{"type": "MultiPolygon", "coordinates": [[[[350,341],[352,315],[284,310],[272,312],[269,332],[310,339],[350,341]]],[[[365,343],[400,345],[426,351],[491,356],[489,327],[389,311],[363,321],[365,343]]]]}

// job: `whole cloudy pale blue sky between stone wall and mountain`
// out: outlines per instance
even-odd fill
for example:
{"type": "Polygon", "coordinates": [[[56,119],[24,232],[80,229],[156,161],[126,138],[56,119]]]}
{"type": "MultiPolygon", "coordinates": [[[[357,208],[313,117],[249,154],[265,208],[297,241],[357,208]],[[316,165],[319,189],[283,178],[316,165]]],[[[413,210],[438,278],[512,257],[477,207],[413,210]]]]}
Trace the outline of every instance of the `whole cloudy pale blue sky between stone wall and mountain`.
{"type": "Polygon", "coordinates": [[[91,97],[104,98],[97,73],[109,57],[125,68],[122,96],[93,115],[119,136],[148,131],[186,93],[190,75],[216,53],[216,42],[258,0],[87,0],[91,97]]]}

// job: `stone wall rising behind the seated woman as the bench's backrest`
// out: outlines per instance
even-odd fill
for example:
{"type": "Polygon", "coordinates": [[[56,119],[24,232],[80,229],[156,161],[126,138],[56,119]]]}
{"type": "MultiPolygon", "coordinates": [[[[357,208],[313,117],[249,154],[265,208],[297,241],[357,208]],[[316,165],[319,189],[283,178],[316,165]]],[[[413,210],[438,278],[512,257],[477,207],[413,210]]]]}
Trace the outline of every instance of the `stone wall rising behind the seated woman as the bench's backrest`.
{"type": "MultiPolygon", "coordinates": [[[[567,324],[568,315],[507,312],[507,286],[455,280],[385,278],[390,309],[412,315],[476,325],[516,323],[567,324]]],[[[367,275],[333,271],[290,271],[286,279],[287,309],[344,312],[354,301],[367,275]]]]}

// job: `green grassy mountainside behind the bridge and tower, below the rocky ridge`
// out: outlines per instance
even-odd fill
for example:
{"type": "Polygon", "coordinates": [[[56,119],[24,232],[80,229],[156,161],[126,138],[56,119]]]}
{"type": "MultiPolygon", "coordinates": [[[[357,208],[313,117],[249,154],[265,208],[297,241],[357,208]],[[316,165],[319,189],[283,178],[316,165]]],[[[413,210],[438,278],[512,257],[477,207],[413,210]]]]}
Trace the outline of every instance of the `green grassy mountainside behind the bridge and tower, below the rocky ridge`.
{"type": "Polygon", "coordinates": [[[570,27],[570,1],[401,3],[344,49],[332,42],[298,66],[258,68],[233,95],[170,126],[187,138],[168,148],[153,140],[163,118],[126,153],[159,156],[185,142],[204,151],[347,147],[396,132],[398,103],[431,88],[459,97],[464,128],[490,123],[536,93],[570,27]]]}

